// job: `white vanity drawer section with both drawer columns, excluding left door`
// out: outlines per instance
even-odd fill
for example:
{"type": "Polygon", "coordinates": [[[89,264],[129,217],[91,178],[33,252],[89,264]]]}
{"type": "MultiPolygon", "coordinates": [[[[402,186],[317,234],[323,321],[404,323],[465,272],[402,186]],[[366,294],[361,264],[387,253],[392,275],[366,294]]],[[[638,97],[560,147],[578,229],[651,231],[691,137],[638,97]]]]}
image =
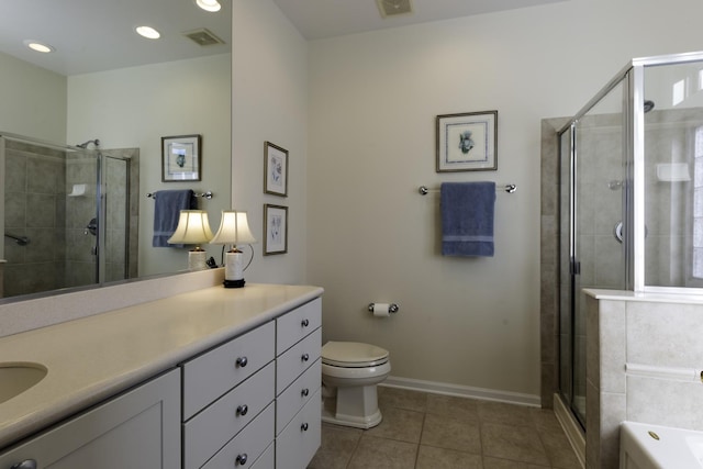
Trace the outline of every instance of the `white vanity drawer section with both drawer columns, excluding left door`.
{"type": "Polygon", "coordinates": [[[183,364],[183,469],[308,466],[321,438],[321,303],[183,364]]]}

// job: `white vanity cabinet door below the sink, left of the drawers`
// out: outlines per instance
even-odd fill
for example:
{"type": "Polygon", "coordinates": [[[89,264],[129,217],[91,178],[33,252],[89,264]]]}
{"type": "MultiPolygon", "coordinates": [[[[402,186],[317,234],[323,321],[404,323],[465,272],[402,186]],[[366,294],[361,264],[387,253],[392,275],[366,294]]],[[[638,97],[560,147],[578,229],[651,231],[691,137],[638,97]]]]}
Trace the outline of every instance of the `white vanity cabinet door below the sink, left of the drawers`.
{"type": "Polygon", "coordinates": [[[0,454],[0,468],[177,468],[179,417],[180,372],[171,370],[0,454]]]}

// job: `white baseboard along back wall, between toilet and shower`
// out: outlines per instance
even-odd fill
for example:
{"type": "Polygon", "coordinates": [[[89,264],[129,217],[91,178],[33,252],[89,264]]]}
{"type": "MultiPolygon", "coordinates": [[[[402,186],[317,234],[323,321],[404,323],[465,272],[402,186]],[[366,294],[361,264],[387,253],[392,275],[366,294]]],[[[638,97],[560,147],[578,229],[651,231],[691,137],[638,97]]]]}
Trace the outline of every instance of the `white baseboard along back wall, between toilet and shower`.
{"type": "Polygon", "coordinates": [[[411,378],[399,378],[390,376],[380,383],[388,388],[409,389],[411,391],[423,391],[433,394],[457,395],[460,398],[483,399],[486,401],[507,402],[511,404],[540,406],[539,395],[523,394],[518,392],[499,391],[494,389],[473,388],[470,386],[449,384],[446,382],[424,381],[411,378]]]}

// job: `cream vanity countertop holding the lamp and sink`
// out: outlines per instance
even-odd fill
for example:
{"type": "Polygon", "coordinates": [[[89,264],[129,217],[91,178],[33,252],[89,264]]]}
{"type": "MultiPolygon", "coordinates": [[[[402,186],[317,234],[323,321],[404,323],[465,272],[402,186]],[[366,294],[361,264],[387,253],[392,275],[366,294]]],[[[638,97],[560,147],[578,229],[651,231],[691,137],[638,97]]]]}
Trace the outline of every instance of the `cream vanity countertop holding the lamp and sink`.
{"type": "Polygon", "coordinates": [[[306,286],[212,287],[0,338],[0,364],[42,381],[0,403],[0,448],[320,295],[306,286]]]}

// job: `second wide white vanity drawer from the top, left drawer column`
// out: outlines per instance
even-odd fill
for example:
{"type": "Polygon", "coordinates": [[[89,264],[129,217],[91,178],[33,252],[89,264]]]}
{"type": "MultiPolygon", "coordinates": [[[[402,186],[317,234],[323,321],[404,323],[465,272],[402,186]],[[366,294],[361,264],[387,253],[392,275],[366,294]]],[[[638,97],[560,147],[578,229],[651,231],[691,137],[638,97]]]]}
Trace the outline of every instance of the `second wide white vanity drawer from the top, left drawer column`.
{"type": "Polygon", "coordinates": [[[274,400],[274,369],[268,364],[183,425],[186,469],[202,466],[266,409],[274,400]]]}

